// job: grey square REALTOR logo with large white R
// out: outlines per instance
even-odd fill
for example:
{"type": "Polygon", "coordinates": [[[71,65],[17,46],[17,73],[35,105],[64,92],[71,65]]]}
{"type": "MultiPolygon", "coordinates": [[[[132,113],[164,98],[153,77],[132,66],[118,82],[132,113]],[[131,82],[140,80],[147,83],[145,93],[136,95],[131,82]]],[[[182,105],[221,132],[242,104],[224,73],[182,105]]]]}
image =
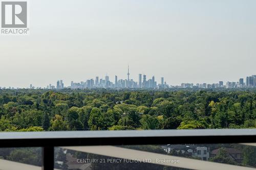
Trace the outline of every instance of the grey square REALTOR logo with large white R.
{"type": "Polygon", "coordinates": [[[28,2],[1,1],[1,25],[2,35],[28,34],[28,2]]]}

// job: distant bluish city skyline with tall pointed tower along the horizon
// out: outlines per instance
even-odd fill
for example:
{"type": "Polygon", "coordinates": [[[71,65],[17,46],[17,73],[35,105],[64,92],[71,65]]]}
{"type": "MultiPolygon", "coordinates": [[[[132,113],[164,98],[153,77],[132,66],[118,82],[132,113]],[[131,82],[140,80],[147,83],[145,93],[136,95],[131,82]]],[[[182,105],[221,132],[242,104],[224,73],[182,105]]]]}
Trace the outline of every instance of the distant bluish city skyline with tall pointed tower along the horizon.
{"type": "MultiPolygon", "coordinates": [[[[152,77],[146,74],[137,74],[136,77],[130,77],[130,66],[127,66],[127,74],[126,79],[120,79],[117,75],[115,75],[114,80],[110,78],[108,74],[105,77],[100,78],[96,76],[94,78],[84,79],[78,82],[71,81],[70,85],[66,82],[66,86],[64,85],[63,79],[57,80],[55,83],[50,83],[47,86],[33,86],[33,83],[29,85],[30,89],[34,88],[44,88],[44,89],[63,89],[63,88],[151,88],[151,89],[165,89],[165,88],[244,88],[244,87],[256,87],[256,75],[246,76],[245,78],[239,78],[238,81],[223,81],[215,83],[188,83],[182,82],[179,85],[169,84],[165,81],[164,77],[159,78],[160,81],[157,81],[155,76],[152,77]]],[[[13,87],[13,86],[1,86],[0,89],[3,88],[28,88],[28,87],[13,87]]]]}

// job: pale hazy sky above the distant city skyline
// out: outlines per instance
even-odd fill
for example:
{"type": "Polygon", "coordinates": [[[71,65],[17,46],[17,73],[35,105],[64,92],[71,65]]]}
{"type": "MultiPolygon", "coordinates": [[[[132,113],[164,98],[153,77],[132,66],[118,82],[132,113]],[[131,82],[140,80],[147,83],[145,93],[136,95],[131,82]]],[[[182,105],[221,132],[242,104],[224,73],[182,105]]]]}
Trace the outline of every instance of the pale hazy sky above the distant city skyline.
{"type": "Polygon", "coordinates": [[[168,84],[256,74],[255,0],[30,0],[30,35],[0,36],[0,86],[138,74],[168,84]]]}

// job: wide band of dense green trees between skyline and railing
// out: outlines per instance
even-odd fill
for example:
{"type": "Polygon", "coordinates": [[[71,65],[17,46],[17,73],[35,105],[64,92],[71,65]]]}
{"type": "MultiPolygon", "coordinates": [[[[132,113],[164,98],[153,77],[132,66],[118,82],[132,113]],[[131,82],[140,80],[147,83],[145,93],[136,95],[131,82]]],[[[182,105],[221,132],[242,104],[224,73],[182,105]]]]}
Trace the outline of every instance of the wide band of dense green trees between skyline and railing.
{"type": "Polygon", "coordinates": [[[256,90],[0,90],[0,131],[256,128],[256,90]]]}

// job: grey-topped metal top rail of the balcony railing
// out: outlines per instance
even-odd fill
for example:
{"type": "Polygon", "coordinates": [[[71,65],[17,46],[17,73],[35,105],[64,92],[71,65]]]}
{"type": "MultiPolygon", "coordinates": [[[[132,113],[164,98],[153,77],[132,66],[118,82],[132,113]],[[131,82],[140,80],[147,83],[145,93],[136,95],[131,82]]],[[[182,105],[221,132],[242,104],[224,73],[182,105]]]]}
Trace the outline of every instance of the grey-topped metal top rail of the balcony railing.
{"type": "Polygon", "coordinates": [[[82,145],[254,143],[256,129],[1,132],[0,148],[82,145]]]}

